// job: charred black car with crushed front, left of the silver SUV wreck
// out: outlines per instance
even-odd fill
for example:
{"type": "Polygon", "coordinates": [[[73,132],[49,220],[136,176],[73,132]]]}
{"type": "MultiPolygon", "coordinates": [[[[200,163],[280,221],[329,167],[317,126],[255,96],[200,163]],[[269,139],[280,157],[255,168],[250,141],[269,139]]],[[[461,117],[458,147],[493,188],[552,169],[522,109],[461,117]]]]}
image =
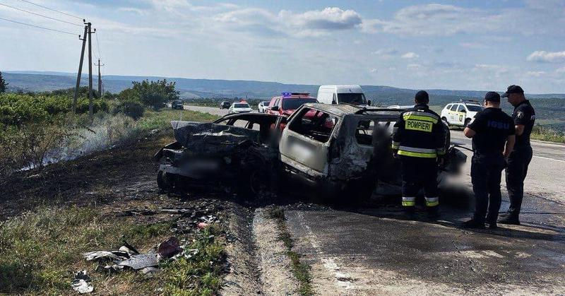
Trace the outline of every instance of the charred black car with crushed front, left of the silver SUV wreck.
{"type": "Polygon", "coordinates": [[[278,126],[271,114],[230,114],[212,123],[171,122],[176,141],[154,156],[160,189],[222,188],[257,194],[278,170],[278,126]],[[164,160],[164,161],[163,161],[164,160]]]}

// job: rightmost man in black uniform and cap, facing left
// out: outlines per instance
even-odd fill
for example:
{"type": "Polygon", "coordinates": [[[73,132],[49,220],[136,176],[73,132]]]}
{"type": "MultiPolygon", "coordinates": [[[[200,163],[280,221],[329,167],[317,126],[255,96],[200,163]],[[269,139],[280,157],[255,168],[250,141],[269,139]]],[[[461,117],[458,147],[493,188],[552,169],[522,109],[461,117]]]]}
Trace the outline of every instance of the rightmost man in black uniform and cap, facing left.
{"type": "Polygon", "coordinates": [[[532,160],[530,134],[535,123],[535,111],[530,101],[525,99],[524,90],[518,85],[510,85],[502,97],[507,97],[514,106],[512,119],[516,126],[516,145],[508,158],[506,167],[506,189],[510,208],[499,220],[501,224],[520,225],[519,215],[524,196],[524,179],[532,160]]]}

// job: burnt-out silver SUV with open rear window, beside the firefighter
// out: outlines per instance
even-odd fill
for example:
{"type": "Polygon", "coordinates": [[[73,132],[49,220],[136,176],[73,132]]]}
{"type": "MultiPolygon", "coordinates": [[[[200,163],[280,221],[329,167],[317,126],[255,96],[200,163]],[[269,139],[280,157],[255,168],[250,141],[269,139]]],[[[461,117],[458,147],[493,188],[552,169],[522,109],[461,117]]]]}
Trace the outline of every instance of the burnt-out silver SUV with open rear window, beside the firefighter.
{"type": "MultiPolygon", "coordinates": [[[[393,126],[405,109],[304,104],[280,136],[280,160],[287,174],[322,189],[337,201],[369,199],[377,184],[398,185],[400,161],[393,158],[393,126]]],[[[445,162],[439,177],[457,173],[466,155],[451,146],[446,129],[445,162]]]]}

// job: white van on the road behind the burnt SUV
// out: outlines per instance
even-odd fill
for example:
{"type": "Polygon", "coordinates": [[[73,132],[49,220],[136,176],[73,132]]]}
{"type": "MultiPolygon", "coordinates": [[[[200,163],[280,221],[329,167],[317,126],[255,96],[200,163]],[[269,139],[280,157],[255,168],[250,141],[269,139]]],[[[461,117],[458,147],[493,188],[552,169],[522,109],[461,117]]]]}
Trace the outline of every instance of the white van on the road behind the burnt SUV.
{"type": "Polygon", "coordinates": [[[370,105],[359,85],[320,85],[317,99],[324,104],[370,105]]]}

